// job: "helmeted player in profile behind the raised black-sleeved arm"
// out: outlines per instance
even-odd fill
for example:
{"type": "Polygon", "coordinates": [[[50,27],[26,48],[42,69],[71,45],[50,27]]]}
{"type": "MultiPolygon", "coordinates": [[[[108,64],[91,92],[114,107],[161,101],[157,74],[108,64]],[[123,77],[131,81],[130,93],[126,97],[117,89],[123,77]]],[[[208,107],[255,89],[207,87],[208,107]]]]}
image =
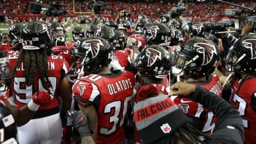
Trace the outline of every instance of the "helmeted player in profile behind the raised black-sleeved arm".
{"type": "MultiPolygon", "coordinates": [[[[219,62],[218,48],[206,38],[190,38],[175,51],[172,59],[172,74],[180,76],[181,81],[200,85],[205,89],[222,95],[222,87],[213,72],[219,62]]],[[[177,78],[178,79],[178,78],[177,78]]],[[[212,134],[217,118],[201,103],[186,97],[171,96],[171,99],[190,117],[194,127],[203,133],[212,134]]]]}

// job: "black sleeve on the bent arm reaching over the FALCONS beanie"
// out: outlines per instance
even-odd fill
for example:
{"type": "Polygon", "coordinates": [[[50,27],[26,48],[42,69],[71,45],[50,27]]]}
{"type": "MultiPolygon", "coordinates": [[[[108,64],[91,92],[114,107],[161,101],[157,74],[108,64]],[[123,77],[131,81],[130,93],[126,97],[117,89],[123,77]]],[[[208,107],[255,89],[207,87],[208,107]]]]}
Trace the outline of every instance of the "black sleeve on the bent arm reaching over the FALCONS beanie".
{"type": "MultiPolygon", "coordinates": [[[[242,144],[244,142],[244,126],[239,112],[224,99],[212,92],[196,86],[196,90],[191,99],[202,103],[218,118],[215,132],[212,137],[222,139],[232,144],[242,144]]],[[[205,139],[204,142],[213,144],[214,142],[205,139]]]]}

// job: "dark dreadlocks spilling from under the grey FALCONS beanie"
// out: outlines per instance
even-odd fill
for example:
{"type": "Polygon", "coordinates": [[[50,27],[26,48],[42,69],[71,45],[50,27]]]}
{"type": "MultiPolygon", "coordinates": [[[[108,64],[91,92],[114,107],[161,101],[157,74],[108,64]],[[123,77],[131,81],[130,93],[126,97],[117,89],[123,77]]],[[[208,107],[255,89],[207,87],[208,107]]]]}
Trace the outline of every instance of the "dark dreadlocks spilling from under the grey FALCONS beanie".
{"type": "Polygon", "coordinates": [[[181,128],[177,129],[174,133],[157,140],[156,142],[153,142],[151,144],[176,144],[177,140],[180,140],[184,144],[194,144],[194,142],[200,142],[202,144],[207,144],[199,139],[199,136],[203,136],[207,140],[212,140],[218,144],[229,144],[228,142],[211,137],[209,135],[206,135],[193,126],[191,126],[189,123],[186,123],[181,128]]]}

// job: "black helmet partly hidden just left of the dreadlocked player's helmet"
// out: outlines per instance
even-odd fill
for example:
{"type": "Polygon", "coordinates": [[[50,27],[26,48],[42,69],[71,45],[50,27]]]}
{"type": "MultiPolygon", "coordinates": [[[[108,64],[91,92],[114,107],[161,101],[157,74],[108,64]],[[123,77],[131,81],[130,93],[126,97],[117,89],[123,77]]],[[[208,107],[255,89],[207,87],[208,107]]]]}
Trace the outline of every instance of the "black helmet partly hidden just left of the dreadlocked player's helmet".
{"type": "Polygon", "coordinates": [[[18,43],[20,40],[20,34],[23,26],[20,24],[11,25],[8,28],[8,36],[11,42],[18,43]]]}

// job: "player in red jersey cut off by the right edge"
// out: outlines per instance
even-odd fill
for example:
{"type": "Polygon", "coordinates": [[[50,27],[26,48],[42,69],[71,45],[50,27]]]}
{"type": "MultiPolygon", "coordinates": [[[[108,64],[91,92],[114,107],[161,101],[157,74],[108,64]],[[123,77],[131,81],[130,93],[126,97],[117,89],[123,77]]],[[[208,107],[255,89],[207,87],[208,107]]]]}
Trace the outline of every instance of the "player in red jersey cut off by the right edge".
{"type": "MultiPolygon", "coordinates": [[[[243,118],[245,144],[256,142],[256,36],[240,38],[229,48],[225,60],[227,71],[234,72],[229,85],[232,88],[230,104],[233,105],[243,118]]],[[[227,76],[219,75],[222,84],[229,81],[227,76]]]]}

